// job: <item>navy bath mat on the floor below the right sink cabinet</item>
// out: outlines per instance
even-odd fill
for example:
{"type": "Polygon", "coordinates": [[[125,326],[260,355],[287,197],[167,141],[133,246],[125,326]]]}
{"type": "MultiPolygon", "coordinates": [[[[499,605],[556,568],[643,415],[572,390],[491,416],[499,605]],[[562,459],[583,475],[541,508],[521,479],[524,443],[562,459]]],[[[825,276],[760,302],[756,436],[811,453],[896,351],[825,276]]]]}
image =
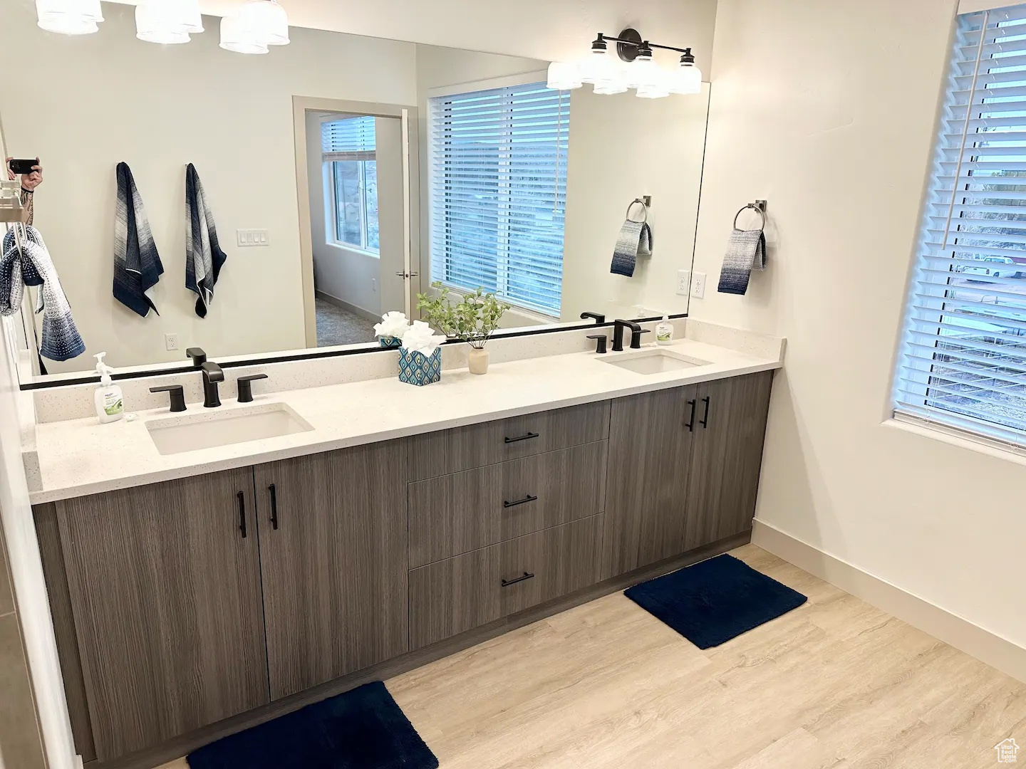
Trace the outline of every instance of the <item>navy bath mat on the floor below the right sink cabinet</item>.
{"type": "Polygon", "coordinates": [[[808,600],[726,555],[635,584],[624,595],[700,649],[726,643],[808,600]]]}

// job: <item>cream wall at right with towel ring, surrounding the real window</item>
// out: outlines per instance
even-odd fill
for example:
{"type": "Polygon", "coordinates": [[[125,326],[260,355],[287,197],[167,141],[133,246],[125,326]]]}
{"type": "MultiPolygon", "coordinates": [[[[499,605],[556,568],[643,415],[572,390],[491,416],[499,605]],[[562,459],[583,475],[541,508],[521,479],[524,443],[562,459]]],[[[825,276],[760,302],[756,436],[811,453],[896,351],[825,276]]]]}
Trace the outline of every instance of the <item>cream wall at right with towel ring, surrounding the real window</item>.
{"type": "Polygon", "coordinates": [[[786,336],[757,517],[1026,646],[1026,468],[882,424],[955,0],[721,0],[695,318],[786,336]],[[735,211],[770,267],[714,290],[735,211]]]}

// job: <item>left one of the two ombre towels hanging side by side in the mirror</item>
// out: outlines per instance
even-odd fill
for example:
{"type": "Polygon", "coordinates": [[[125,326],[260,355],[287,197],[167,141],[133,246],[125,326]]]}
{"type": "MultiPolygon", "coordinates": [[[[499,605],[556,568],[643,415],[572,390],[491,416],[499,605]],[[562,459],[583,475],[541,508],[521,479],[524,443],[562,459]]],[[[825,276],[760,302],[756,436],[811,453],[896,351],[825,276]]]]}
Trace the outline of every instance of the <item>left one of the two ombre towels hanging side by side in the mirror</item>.
{"type": "MultiPolygon", "coordinates": [[[[153,242],[143,197],[126,163],[118,163],[118,206],[114,213],[114,298],[144,318],[157,313],[150,290],[164,272],[153,242]]],[[[160,313],[157,313],[160,315],[160,313]]]]}

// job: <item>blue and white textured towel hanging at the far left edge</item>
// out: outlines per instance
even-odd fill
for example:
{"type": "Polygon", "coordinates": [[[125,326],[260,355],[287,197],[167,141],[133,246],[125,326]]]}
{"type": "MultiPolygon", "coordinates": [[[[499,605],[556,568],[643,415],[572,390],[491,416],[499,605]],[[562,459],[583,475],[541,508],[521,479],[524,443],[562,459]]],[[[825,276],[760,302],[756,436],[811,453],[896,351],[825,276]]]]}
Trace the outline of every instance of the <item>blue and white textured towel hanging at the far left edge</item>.
{"type": "Polygon", "coordinates": [[[3,239],[0,256],[0,315],[14,315],[22,309],[26,286],[42,286],[36,312],[43,313],[43,334],[39,354],[51,361],[67,361],[85,352],[85,342],[75,326],[71,305],[61,287],[61,279],[36,228],[14,225],[3,239]],[[21,245],[14,228],[22,230],[21,245]]]}

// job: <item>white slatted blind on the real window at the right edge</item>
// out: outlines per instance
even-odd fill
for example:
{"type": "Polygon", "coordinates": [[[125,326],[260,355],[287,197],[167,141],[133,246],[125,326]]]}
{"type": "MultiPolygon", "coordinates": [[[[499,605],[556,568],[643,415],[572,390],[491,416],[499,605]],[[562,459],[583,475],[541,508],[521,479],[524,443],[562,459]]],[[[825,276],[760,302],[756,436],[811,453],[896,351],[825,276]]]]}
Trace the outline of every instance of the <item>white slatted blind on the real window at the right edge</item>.
{"type": "Polygon", "coordinates": [[[958,16],[898,417],[1026,448],[1026,5],[958,16]]]}

